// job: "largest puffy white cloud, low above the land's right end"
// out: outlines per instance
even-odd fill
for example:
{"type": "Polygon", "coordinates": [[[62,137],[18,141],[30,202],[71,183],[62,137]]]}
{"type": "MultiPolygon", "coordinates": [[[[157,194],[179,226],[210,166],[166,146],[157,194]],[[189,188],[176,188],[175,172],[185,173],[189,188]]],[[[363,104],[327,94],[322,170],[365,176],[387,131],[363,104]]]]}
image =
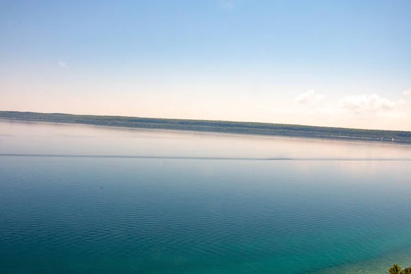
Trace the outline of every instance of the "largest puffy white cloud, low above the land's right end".
{"type": "Polygon", "coordinates": [[[395,108],[403,101],[390,101],[384,97],[373,95],[353,95],[340,99],[340,108],[358,115],[393,114],[395,108]]]}

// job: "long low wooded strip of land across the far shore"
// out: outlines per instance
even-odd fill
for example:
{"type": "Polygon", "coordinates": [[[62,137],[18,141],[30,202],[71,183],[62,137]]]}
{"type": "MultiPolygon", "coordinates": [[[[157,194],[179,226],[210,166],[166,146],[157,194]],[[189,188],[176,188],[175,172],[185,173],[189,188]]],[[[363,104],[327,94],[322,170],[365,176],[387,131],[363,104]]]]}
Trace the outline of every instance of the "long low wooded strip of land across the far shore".
{"type": "Polygon", "coordinates": [[[0,119],[49,123],[75,123],[110,127],[145,129],[175,129],[196,132],[222,132],[232,134],[258,134],[269,136],[300,136],[310,138],[375,140],[411,143],[411,132],[377,129],[350,129],[343,127],[314,127],[232,121],[206,121],[184,119],[157,119],[127,116],[75,115],[62,113],[0,111],[0,119]]]}

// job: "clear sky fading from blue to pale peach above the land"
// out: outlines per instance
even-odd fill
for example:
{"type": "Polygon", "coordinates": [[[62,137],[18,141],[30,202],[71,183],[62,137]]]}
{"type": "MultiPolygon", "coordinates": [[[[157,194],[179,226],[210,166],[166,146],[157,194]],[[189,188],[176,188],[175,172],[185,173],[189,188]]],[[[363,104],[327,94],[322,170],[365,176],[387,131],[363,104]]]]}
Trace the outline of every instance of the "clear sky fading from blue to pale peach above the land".
{"type": "Polygon", "coordinates": [[[0,110],[411,130],[410,0],[0,1],[0,110]]]}

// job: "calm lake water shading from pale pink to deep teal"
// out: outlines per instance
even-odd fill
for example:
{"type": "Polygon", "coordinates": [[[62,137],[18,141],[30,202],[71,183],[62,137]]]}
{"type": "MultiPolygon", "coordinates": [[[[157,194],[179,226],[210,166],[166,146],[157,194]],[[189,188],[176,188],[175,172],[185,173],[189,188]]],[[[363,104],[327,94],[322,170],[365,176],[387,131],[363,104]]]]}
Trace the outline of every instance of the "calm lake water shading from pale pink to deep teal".
{"type": "Polygon", "coordinates": [[[411,266],[411,146],[0,121],[0,273],[411,266]]]}

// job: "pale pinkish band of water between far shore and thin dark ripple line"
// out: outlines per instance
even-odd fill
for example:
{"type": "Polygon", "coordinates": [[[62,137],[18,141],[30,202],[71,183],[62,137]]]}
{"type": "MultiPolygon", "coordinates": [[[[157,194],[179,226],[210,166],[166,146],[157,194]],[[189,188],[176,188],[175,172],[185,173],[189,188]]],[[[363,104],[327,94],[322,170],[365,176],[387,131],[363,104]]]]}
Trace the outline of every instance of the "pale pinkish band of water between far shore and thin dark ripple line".
{"type": "Polygon", "coordinates": [[[1,153],[211,158],[411,158],[410,145],[0,120],[1,153]]]}

